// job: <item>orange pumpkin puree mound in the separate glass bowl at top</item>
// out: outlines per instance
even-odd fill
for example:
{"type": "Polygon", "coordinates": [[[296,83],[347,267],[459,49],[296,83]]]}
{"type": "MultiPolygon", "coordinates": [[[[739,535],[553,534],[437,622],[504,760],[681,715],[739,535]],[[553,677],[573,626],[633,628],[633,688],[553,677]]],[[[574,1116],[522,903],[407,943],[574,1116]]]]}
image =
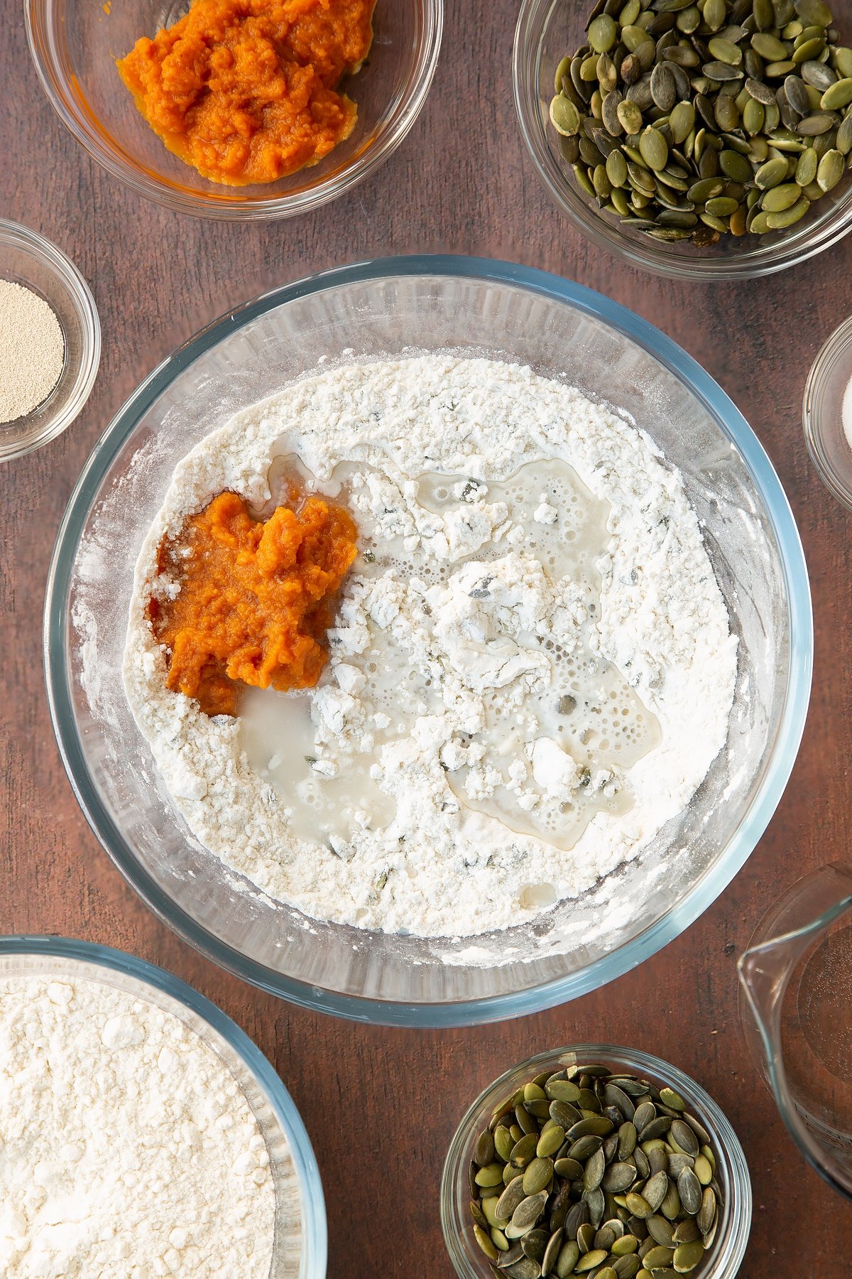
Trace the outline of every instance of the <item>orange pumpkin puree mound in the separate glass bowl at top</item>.
{"type": "Polygon", "coordinates": [[[153,132],[204,178],[275,182],[355,128],[336,92],[373,40],[376,0],[194,0],[116,67],[153,132]]]}

